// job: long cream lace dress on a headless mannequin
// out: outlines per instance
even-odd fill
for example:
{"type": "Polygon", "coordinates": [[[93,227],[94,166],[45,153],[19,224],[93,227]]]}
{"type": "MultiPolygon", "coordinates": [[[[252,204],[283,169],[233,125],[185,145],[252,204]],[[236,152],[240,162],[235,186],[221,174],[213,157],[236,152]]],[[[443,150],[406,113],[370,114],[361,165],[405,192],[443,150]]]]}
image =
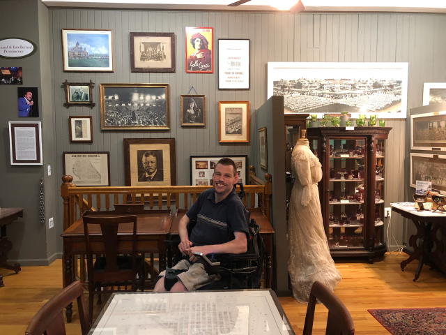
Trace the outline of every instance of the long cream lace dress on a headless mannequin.
{"type": "Polygon", "coordinates": [[[308,302],[314,281],[320,281],[330,290],[341,281],[322,223],[317,186],[322,179],[321,163],[307,143],[307,140],[299,140],[291,156],[295,182],[288,225],[288,271],[293,295],[302,303],[308,302]]]}

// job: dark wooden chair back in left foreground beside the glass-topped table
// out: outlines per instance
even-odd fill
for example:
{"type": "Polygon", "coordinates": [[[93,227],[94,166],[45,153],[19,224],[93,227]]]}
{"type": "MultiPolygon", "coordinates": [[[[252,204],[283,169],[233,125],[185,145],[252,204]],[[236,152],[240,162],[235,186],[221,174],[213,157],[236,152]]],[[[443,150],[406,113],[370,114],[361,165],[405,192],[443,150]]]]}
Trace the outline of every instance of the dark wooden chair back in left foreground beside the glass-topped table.
{"type": "Polygon", "coordinates": [[[66,335],[63,323],[63,308],[77,299],[79,308],[79,320],[81,322],[82,335],[86,335],[91,322],[86,320],[86,305],[84,299],[84,288],[79,281],[67,286],[55,297],[50,299],[29,322],[25,335],[66,335]]]}

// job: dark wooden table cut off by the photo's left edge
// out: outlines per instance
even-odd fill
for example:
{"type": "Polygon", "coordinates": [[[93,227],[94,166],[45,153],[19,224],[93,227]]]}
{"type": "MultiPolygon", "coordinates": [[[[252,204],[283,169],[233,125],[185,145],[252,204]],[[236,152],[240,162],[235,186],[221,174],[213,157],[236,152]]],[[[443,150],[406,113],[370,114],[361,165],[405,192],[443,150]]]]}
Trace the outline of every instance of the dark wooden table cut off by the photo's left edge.
{"type": "MultiPolygon", "coordinates": [[[[6,237],[6,225],[13,223],[17,218],[23,218],[23,208],[2,208],[0,209],[0,226],[1,226],[1,239],[0,239],[0,267],[3,269],[13,270],[17,274],[21,268],[20,264],[8,265],[6,260],[8,259],[8,251],[13,248],[13,243],[6,237]]],[[[0,274],[0,288],[3,288],[3,276],[0,274]]]]}

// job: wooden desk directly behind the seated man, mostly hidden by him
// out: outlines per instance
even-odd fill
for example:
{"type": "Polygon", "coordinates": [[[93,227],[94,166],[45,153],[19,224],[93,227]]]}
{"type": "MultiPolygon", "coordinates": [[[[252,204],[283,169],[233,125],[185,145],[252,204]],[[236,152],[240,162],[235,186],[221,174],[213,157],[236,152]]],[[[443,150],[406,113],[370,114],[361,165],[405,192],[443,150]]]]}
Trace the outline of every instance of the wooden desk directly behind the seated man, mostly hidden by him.
{"type": "MultiPolygon", "coordinates": [[[[265,214],[262,213],[260,208],[249,208],[251,212],[251,218],[254,218],[256,223],[260,226],[260,234],[265,242],[265,288],[271,288],[272,285],[272,234],[275,233],[274,229],[272,229],[271,223],[266,217],[265,214]]],[[[178,223],[180,223],[180,218],[187,212],[186,209],[178,209],[174,216],[174,220],[172,221],[170,236],[171,239],[179,240],[178,236],[178,223]]],[[[170,251],[168,250],[168,253],[170,251]]],[[[170,262],[172,259],[172,255],[167,255],[167,260],[170,262]]],[[[171,267],[171,264],[167,266],[171,267]]]]}

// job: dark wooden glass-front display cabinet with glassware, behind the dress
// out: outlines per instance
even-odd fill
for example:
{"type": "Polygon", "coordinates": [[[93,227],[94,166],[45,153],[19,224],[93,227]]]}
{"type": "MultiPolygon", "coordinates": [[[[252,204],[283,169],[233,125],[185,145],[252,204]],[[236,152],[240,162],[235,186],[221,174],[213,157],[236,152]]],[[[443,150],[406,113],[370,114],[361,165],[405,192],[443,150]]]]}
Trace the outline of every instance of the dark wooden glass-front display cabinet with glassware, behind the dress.
{"type": "Polygon", "coordinates": [[[387,251],[384,241],[385,140],[392,128],[308,128],[323,178],[319,194],[332,257],[373,262],[387,251]]]}

